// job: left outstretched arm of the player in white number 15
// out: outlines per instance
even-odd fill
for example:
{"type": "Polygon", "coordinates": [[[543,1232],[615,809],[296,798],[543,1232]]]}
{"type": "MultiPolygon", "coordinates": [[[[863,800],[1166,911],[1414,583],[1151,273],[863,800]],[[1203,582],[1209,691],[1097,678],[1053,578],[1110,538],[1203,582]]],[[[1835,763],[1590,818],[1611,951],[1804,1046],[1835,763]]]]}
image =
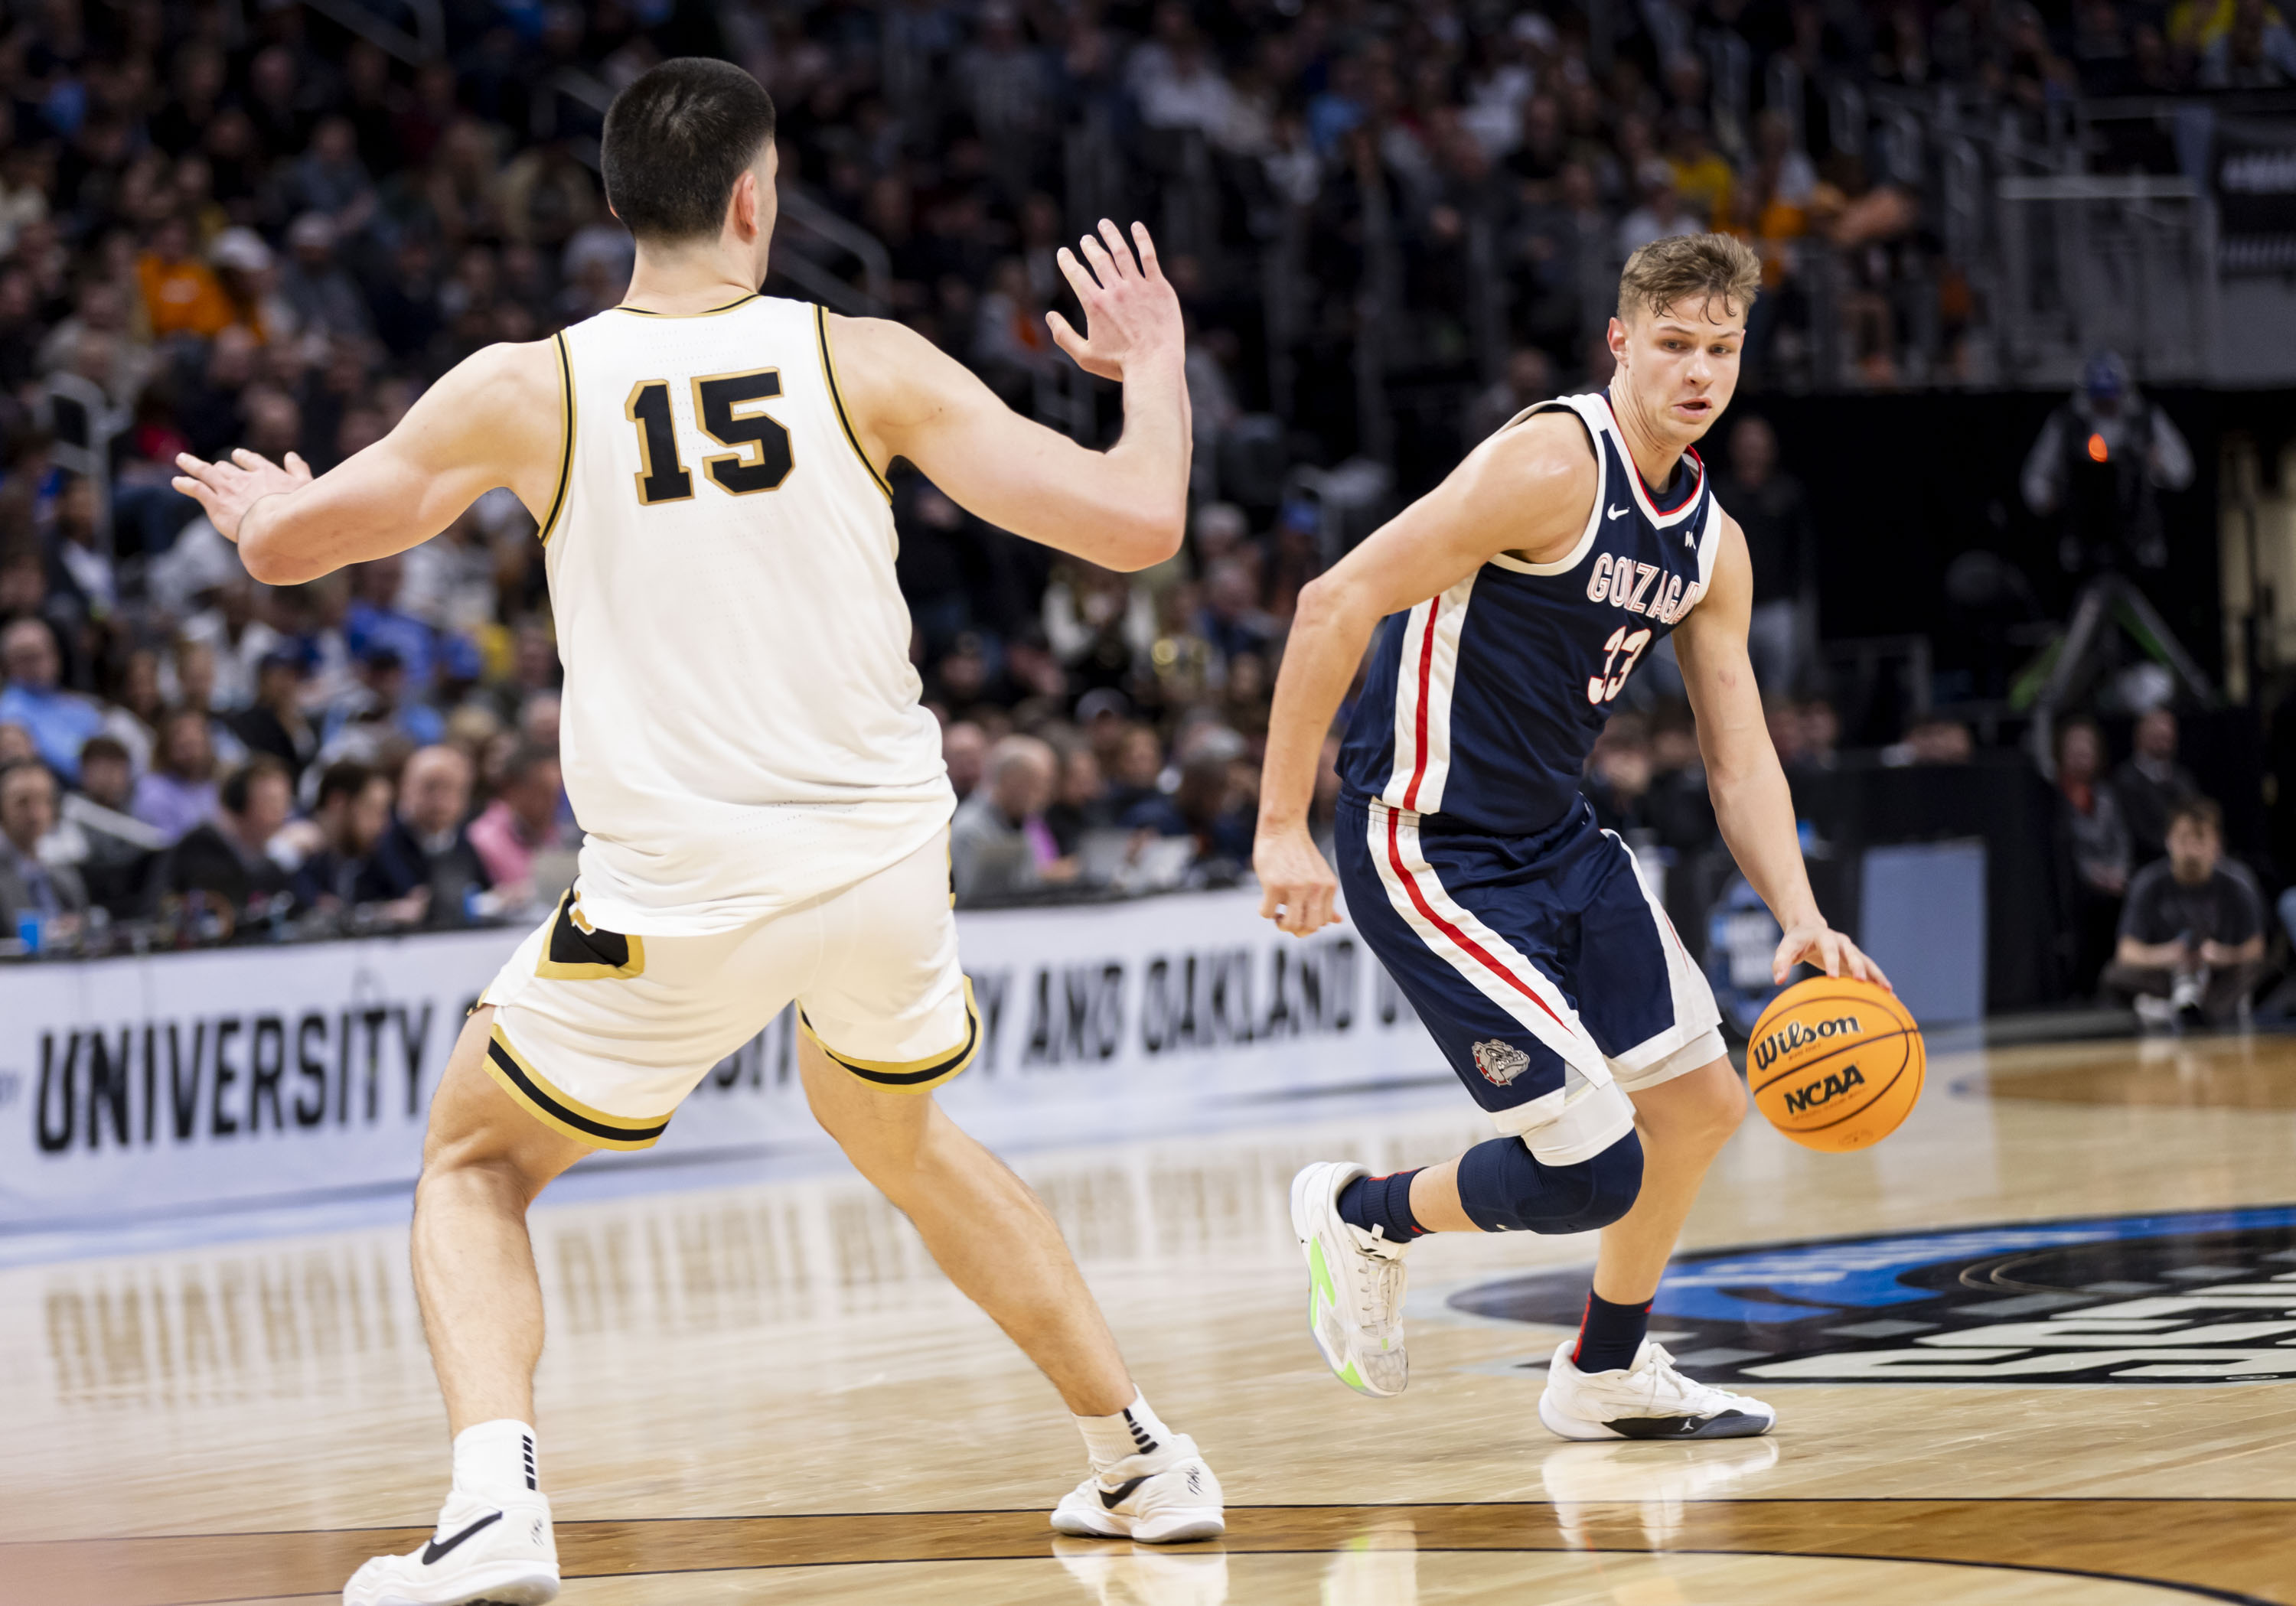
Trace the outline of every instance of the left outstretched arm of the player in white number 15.
{"type": "Polygon", "coordinates": [[[214,463],[184,452],[174,489],[239,544],[253,578],[301,585],[420,546],[496,486],[544,519],[563,431],[553,342],[487,346],[425,390],[397,429],[319,477],[294,452],[285,463],[246,450],[214,463]]]}

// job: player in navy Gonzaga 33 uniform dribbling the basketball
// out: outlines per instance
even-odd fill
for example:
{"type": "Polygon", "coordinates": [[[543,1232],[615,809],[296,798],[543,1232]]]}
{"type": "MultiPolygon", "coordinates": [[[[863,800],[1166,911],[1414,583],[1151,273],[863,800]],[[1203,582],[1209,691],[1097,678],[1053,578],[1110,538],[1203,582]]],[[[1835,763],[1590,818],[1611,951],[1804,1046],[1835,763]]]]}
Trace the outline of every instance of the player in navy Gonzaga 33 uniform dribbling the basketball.
{"type": "Polygon", "coordinates": [[[1649,1340],[1658,1278],[1745,1090],[1699,966],[1577,792],[1635,665],[1674,633],[1722,837],[1784,927],[1777,980],[1795,964],[1885,980],[1809,892],[1747,665],[1745,537],[1694,450],[1738,383],[1756,284],[1754,252],[1722,234],[1637,250],[1609,388],[1527,408],[1300,592],[1261,787],[1261,913],[1306,936],[1345,888],[1499,1129],[1426,1170],[1325,1161],[1293,1179],[1309,1328],[1359,1393],[1407,1379],[1412,1239],[1600,1227],[1587,1319],[1538,1402],[1548,1429],[1729,1439],[1777,1420],[1649,1340]],[[1366,645],[1334,876],[1306,810],[1366,645]]]}

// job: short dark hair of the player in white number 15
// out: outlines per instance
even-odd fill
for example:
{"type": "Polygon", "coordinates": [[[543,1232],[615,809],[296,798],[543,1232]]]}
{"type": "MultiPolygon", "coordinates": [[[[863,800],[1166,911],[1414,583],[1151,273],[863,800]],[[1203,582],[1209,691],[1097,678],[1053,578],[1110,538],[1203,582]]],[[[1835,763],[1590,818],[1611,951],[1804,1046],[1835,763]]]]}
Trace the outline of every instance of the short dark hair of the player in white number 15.
{"type": "Polygon", "coordinates": [[[606,108],[606,202],[638,241],[714,239],[774,138],[774,96],[732,62],[675,55],[606,108]]]}

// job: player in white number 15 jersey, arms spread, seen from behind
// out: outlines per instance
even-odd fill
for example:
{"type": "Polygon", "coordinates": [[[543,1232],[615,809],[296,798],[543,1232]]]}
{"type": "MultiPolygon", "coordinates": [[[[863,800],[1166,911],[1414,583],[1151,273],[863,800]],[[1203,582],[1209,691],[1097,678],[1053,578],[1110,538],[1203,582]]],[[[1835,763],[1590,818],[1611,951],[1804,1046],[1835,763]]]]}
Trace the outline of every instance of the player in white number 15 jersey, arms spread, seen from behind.
{"type": "Polygon", "coordinates": [[[558,1592],[526,1209],[592,1149],[654,1143],[792,998],[815,1117],[1079,1420],[1093,1475],[1052,1526],[1217,1535],[1219,1482],[1132,1386],[1052,1216],[930,1097],[980,1023],[948,909],[955,796],[909,668],[886,491],[900,457],[980,519],[1088,562],[1178,551],[1180,307],[1148,232],[1127,243],[1102,223],[1061,252],[1086,333],[1054,312],[1052,335],[1125,390],[1123,438],[1091,452],[898,323],[758,296],[774,103],[744,71],[654,67],[608,110],[602,165],[638,245],[620,307],[480,351],[317,480],[296,457],[179,459],[177,486],[271,585],[416,546],[510,486],[540,521],[565,661],[581,874],[464,1028],[416,1191],[452,1491],[432,1542],[360,1567],[344,1601],[558,1592]]]}

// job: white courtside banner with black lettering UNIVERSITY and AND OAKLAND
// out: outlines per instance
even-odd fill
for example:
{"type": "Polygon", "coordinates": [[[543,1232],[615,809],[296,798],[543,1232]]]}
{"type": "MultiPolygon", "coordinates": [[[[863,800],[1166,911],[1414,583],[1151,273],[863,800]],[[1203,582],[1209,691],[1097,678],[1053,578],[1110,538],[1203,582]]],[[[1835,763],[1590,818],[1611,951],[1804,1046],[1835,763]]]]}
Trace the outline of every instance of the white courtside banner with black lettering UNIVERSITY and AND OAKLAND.
{"type": "MultiPolygon", "coordinates": [[[[957,929],[983,1023],[980,1058],[939,1094],[960,1120],[1031,1106],[1038,1131],[1095,1138],[1148,1104],[1442,1069],[1345,927],[1281,936],[1258,892],[969,911],[957,929]]],[[[521,936],[0,970],[0,1227],[409,1184],[464,1016],[521,936]]],[[[657,1149],[585,1165],[810,1143],[785,1009],[657,1149]]]]}

